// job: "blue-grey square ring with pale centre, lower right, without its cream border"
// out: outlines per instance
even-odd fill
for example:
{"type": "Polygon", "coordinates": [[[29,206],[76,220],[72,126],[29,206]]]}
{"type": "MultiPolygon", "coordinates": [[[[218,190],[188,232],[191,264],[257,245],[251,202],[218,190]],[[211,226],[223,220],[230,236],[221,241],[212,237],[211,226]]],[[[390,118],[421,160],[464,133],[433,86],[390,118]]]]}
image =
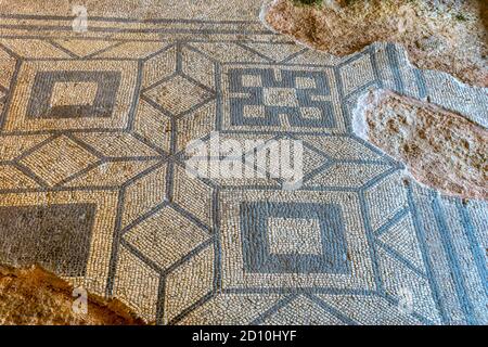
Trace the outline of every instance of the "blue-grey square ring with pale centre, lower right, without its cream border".
{"type": "Polygon", "coordinates": [[[334,204],[241,204],[246,272],[347,273],[342,209],[334,204]]]}

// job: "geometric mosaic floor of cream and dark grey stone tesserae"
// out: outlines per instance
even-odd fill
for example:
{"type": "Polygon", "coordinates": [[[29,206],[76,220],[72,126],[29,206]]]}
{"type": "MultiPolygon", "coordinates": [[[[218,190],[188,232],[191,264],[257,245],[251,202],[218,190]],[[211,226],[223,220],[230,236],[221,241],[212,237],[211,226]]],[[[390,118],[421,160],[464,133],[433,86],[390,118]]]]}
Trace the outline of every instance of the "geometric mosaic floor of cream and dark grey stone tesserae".
{"type": "Polygon", "coordinates": [[[487,324],[488,206],[351,132],[371,88],[487,125],[486,90],[259,21],[0,15],[0,261],[158,324],[487,324]],[[190,141],[304,143],[304,181],[195,178],[190,141]]]}

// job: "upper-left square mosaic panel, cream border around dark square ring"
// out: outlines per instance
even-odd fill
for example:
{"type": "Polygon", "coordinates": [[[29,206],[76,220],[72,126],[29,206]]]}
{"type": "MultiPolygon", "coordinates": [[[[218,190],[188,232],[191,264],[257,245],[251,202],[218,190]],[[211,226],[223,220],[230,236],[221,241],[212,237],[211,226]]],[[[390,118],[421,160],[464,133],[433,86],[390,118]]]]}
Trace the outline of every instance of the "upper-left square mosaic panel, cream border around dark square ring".
{"type": "Polygon", "coordinates": [[[131,61],[24,62],[3,131],[124,129],[134,112],[138,69],[131,61]]]}

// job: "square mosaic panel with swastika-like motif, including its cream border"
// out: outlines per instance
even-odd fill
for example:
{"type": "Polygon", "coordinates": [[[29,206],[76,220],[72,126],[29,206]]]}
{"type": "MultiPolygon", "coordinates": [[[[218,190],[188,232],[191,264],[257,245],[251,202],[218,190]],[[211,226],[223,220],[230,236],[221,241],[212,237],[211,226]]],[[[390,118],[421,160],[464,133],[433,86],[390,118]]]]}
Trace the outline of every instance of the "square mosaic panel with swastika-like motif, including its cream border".
{"type": "Polygon", "coordinates": [[[222,130],[343,131],[332,68],[223,67],[222,130]]]}

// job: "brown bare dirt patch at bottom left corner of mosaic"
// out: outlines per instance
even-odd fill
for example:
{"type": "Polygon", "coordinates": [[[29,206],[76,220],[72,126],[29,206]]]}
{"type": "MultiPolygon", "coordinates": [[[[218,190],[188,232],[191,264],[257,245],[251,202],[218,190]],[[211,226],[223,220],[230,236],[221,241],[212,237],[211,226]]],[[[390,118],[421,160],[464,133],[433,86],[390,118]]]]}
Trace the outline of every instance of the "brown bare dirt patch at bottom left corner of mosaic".
{"type": "MultiPolygon", "coordinates": [[[[87,313],[73,310],[77,296],[64,280],[39,267],[0,266],[0,324],[143,324],[124,304],[88,294],[87,313]]],[[[77,306],[79,307],[79,306],[77,306]]],[[[80,308],[80,307],[79,307],[80,308]]]]}

